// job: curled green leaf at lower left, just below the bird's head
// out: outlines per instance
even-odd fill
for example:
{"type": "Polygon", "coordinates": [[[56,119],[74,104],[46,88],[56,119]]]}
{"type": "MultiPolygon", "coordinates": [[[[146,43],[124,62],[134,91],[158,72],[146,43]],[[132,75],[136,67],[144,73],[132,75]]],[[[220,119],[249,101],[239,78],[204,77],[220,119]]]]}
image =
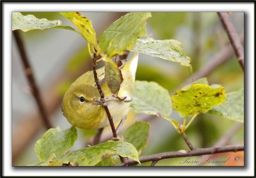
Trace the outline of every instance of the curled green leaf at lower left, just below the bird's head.
{"type": "Polygon", "coordinates": [[[56,157],[61,156],[74,145],[76,139],[75,127],[67,130],[62,130],[59,127],[51,128],[36,142],[36,156],[40,161],[47,161],[52,154],[55,154],[56,157]]]}

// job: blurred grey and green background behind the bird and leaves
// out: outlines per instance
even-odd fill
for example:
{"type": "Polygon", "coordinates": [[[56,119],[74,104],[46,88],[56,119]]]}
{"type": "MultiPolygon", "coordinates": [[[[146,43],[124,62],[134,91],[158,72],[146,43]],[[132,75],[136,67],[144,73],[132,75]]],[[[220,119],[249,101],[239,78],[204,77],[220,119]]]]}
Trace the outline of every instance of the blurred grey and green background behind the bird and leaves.
{"type": "MultiPolygon", "coordinates": [[[[22,14],[33,14],[40,19],[59,19],[63,25],[72,26],[71,22],[56,12],[22,12],[22,14]]],[[[102,31],[125,13],[81,12],[81,14],[92,20],[99,39],[102,31]]],[[[244,13],[233,12],[230,18],[237,33],[243,35],[244,13]]],[[[91,63],[86,41],[78,34],[63,29],[20,33],[45,103],[56,103],[56,108],[48,109],[52,125],[61,128],[70,127],[61,114],[61,98],[77,76],[90,70],[91,63]]],[[[202,70],[229,43],[218,15],[214,12],[152,12],[152,17],[147,20],[147,37],[180,41],[184,51],[192,59],[193,73],[202,70]]],[[[12,40],[13,165],[28,165],[36,161],[34,145],[46,130],[42,123],[38,124],[38,117],[33,119],[33,115],[37,112],[36,103],[29,92],[28,81],[19,58],[15,40],[12,40]],[[36,126],[36,129],[32,129],[33,126],[36,126]]],[[[172,93],[173,89],[177,89],[188,78],[191,78],[189,68],[140,54],[136,80],[155,81],[172,93]]],[[[244,86],[243,70],[234,55],[213,70],[207,78],[209,84],[223,85],[227,93],[244,86]]],[[[177,120],[180,119],[177,112],[173,111],[172,116],[177,120]]],[[[143,115],[137,115],[136,119],[140,119],[139,117],[143,115]]],[[[148,147],[142,155],[188,150],[182,137],[168,121],[161,118],[147,121],[150,122],[150,136],[148,147]]],[[[200,114],[190,126],[187,135],[195,147],[211,147],[233,124],[234,121],[218,115],[200,114]]],[[[84,147],[94,133],[93,130],[79,130],[79,139],[73,149],[84,147]]],[[[243,142],[244,131],[241,128],[230,140],[230,144],[243,142]]],[[[164,159],[157,165],[181,166],[179,162],[183,159],[164,159]]]]}

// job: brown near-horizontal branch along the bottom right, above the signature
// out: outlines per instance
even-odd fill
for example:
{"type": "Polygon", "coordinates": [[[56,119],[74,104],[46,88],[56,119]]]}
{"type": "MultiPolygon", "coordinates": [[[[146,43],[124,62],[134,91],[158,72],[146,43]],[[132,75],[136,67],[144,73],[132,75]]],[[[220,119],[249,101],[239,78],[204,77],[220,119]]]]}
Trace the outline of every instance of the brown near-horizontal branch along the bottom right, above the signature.
{"type": "MultiPolygon", "coordinates": [[[[225,147],[211,147],[211,148],[201,148],[201,149],[194,149],[193,151],[187,152],[162,152],[159,154],[152,154],[148,156],[140,157],[140,162],[145,163],[148,161],[159,161],[161,159],[167,158],[180,158],[180,157],[188,157],[188,156],[200,156],[204,154],[214,154],[220,152],[236,152],[236,151],[244,151],[244,145],[228,145],[225,147]]],[[[136,165],[138,164],[137,161],[133,159],[129,159],[125,165],[136,165]]],[[[120,163],[118,166],[124,166],[124,163],[120,163]]]]}

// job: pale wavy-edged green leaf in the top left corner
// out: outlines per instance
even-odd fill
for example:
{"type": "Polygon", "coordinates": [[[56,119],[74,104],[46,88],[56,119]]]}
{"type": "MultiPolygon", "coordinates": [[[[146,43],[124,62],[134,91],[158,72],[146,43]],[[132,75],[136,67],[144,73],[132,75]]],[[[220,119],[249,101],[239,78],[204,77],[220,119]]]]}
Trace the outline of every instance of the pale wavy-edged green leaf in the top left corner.
{"type": "Polygon", "coordinates": [[[60,20],[37,19],[34,15],[22,15],[20,12],[12,13],[13,31],[20,29],[27,32],[33,29],[49,29],[60,25],[60,20]]]}

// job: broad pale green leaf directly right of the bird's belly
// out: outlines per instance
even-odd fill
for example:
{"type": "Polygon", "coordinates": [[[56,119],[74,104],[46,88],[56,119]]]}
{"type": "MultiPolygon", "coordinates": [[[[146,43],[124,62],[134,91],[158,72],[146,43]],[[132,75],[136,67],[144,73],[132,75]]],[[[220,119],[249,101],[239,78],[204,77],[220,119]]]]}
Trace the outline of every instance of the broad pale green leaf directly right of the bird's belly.
{"type": "Polygon", "coordinates": [[[156,82],[136,80],[131,107],[137,113],[161,117],[168,117],[172,114],[170,95],[166,89],[156,82]]]}

